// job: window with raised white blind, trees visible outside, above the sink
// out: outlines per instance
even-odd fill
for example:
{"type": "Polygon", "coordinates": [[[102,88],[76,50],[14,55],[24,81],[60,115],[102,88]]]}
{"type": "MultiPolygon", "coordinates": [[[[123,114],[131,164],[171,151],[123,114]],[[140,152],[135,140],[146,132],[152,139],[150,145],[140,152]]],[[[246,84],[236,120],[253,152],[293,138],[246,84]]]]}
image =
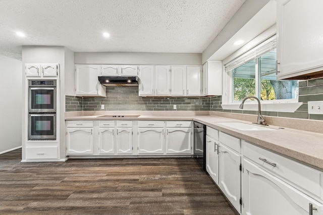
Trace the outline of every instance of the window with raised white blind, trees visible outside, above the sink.
{"type": "Polygon", "coordinates": [[[298,81],[277,80],[276,37],[226,65],[231,76],[231,102],[247,96],[260,100],[289,100],[298,98],[298,81]]]}

